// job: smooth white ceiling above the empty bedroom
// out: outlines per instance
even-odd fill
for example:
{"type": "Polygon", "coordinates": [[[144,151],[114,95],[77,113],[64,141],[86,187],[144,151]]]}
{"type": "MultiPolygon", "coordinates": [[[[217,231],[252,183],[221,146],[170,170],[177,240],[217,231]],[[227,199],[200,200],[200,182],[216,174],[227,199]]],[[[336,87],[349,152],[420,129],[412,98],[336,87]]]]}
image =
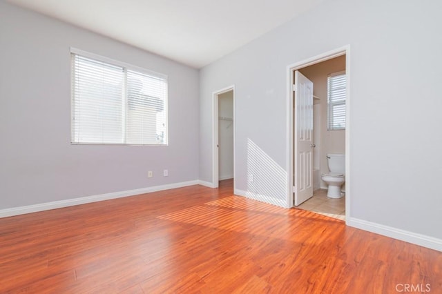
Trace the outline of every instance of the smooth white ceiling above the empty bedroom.
{"type": "Polygon", "coordinates": [[[194,68],[323,0],[8,0],[194,68]]]}

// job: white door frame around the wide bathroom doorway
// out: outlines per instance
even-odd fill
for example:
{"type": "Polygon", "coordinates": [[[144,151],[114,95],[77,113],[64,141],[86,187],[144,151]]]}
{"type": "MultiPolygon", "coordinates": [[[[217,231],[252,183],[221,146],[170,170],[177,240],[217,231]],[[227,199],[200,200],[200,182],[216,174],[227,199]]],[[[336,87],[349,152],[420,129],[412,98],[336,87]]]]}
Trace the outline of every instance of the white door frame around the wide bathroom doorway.
{"type": "Polygon", "coordinates": [[[287,66],[287,130],[289,136],[287,136],[287,207],[294,206],[294,103],[293,103],[293,83],[294,83],[294,70],[312,66],[316,63],[327,61],[329,59],[345,55],[345,74],[347,77],[347,96],[345,97],[345,219],[349,219],[350,216],[350,177],[352,175],[350,171],[350,128],[352,126],[350,122],[350,46],[346,45],[329,52],[325,52],[309,59],[299,61],[297,63],[287,66]]]}

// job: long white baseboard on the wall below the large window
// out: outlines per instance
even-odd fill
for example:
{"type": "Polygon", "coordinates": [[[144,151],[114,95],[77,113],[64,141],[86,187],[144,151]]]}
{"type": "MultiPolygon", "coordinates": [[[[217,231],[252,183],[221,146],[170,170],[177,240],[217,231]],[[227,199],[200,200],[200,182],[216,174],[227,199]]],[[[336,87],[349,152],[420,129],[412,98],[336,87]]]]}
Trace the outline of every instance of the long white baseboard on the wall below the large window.
{"type": "Polygon", "coordinates": [[[109,199],[128,197],[128,196],[133,196],[133,195],[140,195],[140,194],[144,194],[144,193],[151,193],[151,192],[156,192],[156,191],[161,191],[161,190],[169,190],[169,189],[173,189],[173,188],[182,188],[182,187],[198,185],[198,184],[201,184],[200,181],[195,180],[195,181],[189,181],[189,182],[166,184],[166,185],[162,185],[162,186],[153,186],[153,187],[140,188],[140,189],[134,189],[134,190],[126,190],[126,191],[120,191],[120,192],[115,192],[115,193],[106,193],[106,194],[101,194],[101,195],[79,197],[79,198],[66,199],[66,200],[60,200],[60,201],[54,201],[54,202],[46,202],[46,203],[41,203],[41,204],[33,204],[33,205],[27,205],[27,206],[6,208],[6,209],[0,210],[0,217],[12,217],[14,215],[23,215],[26,213],[37,213],[38,211],[43,211],[43,210],[50,210],[50,209],[55,209],[55,208],[75,206],[75,205],[79,205],[79,204],[99,202],[99,201],[104,201],[104,200],[109,200],[109,199]]]}

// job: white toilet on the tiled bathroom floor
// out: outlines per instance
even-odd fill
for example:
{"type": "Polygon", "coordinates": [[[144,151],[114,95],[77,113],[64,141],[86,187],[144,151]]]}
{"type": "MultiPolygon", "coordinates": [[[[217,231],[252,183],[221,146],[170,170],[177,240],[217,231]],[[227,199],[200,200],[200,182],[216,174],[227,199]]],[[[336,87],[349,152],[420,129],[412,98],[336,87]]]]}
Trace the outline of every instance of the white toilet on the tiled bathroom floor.
{"type": "Polygon", "coordinates": [[[327,197],[340,198],[340,186],[345,182],[345,154],[327,154],[329,173],[323,173],[321,179],[328,185],[327,197]]]}

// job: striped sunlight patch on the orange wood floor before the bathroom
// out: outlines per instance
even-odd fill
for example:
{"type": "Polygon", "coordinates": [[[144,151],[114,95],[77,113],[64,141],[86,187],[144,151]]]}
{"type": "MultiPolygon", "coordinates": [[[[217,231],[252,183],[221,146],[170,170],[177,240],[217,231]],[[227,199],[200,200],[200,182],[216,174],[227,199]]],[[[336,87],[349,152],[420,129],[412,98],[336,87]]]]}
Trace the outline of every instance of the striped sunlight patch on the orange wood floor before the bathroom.
{"type": "Polygon", "coordinates": [[[324,222],[331,226],[340,223],[309,211],[281,208],[235,195],[160,215],[157,218],[262,237],[271,235],[287,240],[296,240],[302,233],[307,235],[310,233],[302,232],[303,229],[299,227],[301,220],[312,222],[314,226],[323,226],[324,222]],[[284,231],[286,233],[281,233],[284,231]],[[296,235],[287,232],[296,232],[296,235]]]}

